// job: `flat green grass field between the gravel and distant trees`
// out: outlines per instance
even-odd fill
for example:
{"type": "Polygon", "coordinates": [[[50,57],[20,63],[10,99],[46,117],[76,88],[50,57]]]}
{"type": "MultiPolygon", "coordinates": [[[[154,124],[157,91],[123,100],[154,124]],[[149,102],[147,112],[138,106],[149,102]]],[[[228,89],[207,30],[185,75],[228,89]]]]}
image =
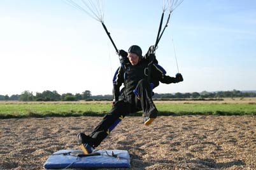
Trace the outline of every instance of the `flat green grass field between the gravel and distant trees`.
{"type": "MultiPolygon", "coordinates": [[[[225,98],[222,101],[155,101],[155,105],[159,115],[256,115],[256,98],[225,98]]],[[[103,116],[110,109],[110,101],[1,101],[0,118],[103,116]]],[[[132,115],[141,115],[141,112],[132,115]]]]}

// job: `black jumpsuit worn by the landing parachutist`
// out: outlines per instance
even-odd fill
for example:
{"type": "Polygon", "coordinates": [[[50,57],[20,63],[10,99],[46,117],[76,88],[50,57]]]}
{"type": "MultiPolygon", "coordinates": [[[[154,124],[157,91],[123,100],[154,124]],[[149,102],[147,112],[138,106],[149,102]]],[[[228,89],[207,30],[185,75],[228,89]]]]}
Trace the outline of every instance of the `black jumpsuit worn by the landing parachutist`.
{"type": "MultiPolygon", "coordinates": [[[[153,63],[152,81],[150,81],[153,88],[159,85],[159,81],[166,84],[176,82],[175,77],[169,77],[165,74],[166,71],[160,65],[153,63]]],[[[152,101],[152,88],[147,75],[148,60],[142,60],[137,65],[120,66],[117,69],[113,77],[113,95],[117,102],[90,134],[90,140],[88,141],[90,146],[97,147],[125,115],[143,110],[143,115],[152,117],[152,112],[157,112],[157,108],[152,101]],[[124,88],[122,94],[120,94],[122,84],[124,84],[124,88]],[[134,94],[134,89],[136,89],[138,95],[134,94]],[[122,95],[122,100],[118,101],[120,95],[122,95]]],[[[152,118],[156,116],[153,115],[152,118]]]]}

